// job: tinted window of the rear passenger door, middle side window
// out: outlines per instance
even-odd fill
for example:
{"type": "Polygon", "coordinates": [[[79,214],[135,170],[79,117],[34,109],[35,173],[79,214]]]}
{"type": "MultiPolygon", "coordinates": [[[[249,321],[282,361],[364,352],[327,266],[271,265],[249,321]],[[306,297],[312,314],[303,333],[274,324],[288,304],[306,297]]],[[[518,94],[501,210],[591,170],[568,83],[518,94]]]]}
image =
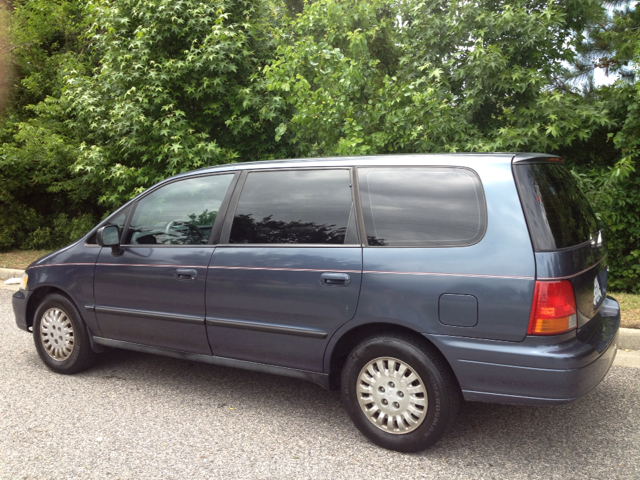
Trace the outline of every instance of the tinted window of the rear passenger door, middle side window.
{"type": "Polygon", "coordinates": [[[230,243],[356,243],[348,170],[252,172],[240,195],[230,243]],[[345,240],[347,240],[345,242],[345,240]]]}

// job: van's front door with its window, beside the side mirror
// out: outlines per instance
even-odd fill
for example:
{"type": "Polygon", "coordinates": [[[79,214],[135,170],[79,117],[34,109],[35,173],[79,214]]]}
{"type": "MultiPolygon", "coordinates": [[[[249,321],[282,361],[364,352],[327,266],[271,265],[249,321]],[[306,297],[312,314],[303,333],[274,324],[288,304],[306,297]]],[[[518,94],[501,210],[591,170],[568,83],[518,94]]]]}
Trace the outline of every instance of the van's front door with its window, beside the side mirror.
{"type": "Polygon", "coordinates": [[[103,248],[96,265],[104,337],[211,354],[204,324],[210,237],[233,176],[177,180],[136,202],[124,252],[103,248]]]}

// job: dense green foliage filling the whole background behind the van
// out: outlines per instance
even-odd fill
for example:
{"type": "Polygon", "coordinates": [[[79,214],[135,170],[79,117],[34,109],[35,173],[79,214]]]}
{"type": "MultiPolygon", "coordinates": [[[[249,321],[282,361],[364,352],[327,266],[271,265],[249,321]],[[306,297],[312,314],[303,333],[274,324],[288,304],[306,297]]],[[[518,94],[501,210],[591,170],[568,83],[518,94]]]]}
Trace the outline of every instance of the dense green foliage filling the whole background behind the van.
{"type": "Polygon", "coordinates": [[[0,15],[15,71],[0,248],[68,242],[205,165],[542,151],[563,155],[595,203],[612,285],[638,291],[632,3],[14,0],[0,15]],[[596,86],[596,67],[620,80],[596,86]]]}

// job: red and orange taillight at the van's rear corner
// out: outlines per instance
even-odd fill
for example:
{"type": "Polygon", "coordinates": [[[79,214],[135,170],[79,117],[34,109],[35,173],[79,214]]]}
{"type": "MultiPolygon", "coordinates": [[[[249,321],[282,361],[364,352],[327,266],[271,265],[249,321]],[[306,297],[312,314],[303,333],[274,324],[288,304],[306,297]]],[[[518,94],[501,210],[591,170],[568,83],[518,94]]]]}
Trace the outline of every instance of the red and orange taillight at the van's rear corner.
{"type": "Polygon", "coordinates": [[[558,335],[577,326],[576,298],[569,280],[536,282],[528,335],[558,335]]]}

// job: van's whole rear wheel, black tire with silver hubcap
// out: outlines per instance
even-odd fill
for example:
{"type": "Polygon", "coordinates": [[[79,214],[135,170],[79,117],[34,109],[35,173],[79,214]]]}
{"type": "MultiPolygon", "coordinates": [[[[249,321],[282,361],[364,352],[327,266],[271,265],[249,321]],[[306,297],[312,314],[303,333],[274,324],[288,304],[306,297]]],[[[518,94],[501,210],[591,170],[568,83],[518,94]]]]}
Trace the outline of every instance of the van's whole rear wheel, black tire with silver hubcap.
{"type": "MultiPolygon", "coordinates": [[[[383,334],[362,341],[347,357],[342,370],[341,384],[342,398],[347,412],[358,430],[373,443],[399,452],[417,452],[433,445],[453,425],[460,407],[460,389],[449,365],[438,353],[433,352],[419,339],[409,335],[383,334]],[[390,360],[384,363],[384,360],[382,360],[384,358],[390,360]],[[395,359],[399,362],[393,361],[395,359]],[[375,364],[372,363],[374,361],[376,361],[375,364]],[[380,373],[379,370],[376,370],[381,375],[379,378],[374,378],[370,381],[371,383],[367,383],[367,381],[362,383],[362,379],[365,377],[361,377],[361,374],[368,375],[363,371],[364,367],[367,366],[367,372],[370,372],[371,368],[375,369],[380,364],[389,367],[386,370],[387,372],[397,369],[393,375],[400,375],[399,372],[408,367],[404,374],[396,377],[400,378],[400,381],[406,383],[406,385],[402,387],[392,382],[387,382],[390,377],[385,376],[387,374],[384,371],[380,373]],[[417,374],[418,378],[414,383],[407,383],[413,378],[411,371],[417,374]],[[382,382],[387,382],[390,386],[387,387],[387,391],[382,388],[381,391],[384,393],[378,393],[380,387],[386,386],[382,382]],[[420,384],[423,387],[419,387],[420,384]],[[359,385],[363,385],[372,394],[359,393],[359,385]],[[418,385],[418,387],[415,385],[418,385]],[[416,389],[420,391],[412,394],[407,388],[413,389],[414,392],[416,392],[416,389]],[[424,391],[426,391],[426,394],[421,393],[424,391]],[[375,400],[373,394],[377,396],[375,400]],[[420,395],[426,396],[427,401],[420,402],[420,395]],[[394,401],[396,396],[402,396],[398,401],[404,402],[404,404],[396,403],[394,401]],[[359,398],[362,398],[363,404],[370,398],[371,403],[361,407],[359,398]],[[415,398],[416,400],[409,400],[408,398],[415,398]],[[385,401],[387,403],[384,403],[385,401]],[[426,404],[422,407],[423,410],[416,410],[416,404],[412,404],[411,407],[403,410],[405,408],[403,405],[408,405],[415,401],[426,404]],[[400,408],[398,412],[404,411],[411,416],[412,418],[409,418],[409,420],[413,423],[403,421],[403,424],[399,425],[399,422],[394,420],[389,422],[390,418],[401,418],[400,416],[390,417],[383,412],[383,410],[390,411],[395,408],[395,405],[400,408]],[[365,414],[365,409],[369,414],[365,414]],[[380,413],[378,417],[375,416],[375,413],[370,413],[375,412],[376,409],[380,413]],[[415,411],[420,417],[412,415],[409,409],[415,411]],[[374,421],[384,423],[385,416],[386,426],[374,424],[374,421]],[[404,432],[402,429],[412,430],[404,432]],[[392,431],[395,433],[391,433],[392,431]]],[[[417,405],[417,407],[419,408],[420,406],[417,405]]]]}

